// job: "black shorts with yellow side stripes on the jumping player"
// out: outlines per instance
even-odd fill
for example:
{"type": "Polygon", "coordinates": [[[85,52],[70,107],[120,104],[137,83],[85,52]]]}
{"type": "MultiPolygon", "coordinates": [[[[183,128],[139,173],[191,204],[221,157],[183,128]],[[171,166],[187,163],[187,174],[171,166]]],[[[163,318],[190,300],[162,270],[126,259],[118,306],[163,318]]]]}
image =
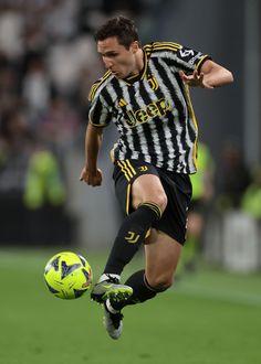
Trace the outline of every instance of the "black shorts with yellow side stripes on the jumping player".
{"type": "Polygon", "coordinates": [[[113,178],[116,196],[121,207],[127,215],[134,211],[130,200],[132,183],[143,174],[157,175],[168,199],[161,218],[156,221],[153,227],[166,233],[184,245],[187,231],[187,212],[192,194],[189,175],[161,170],[136,160],[115,161],[113,178]]]}

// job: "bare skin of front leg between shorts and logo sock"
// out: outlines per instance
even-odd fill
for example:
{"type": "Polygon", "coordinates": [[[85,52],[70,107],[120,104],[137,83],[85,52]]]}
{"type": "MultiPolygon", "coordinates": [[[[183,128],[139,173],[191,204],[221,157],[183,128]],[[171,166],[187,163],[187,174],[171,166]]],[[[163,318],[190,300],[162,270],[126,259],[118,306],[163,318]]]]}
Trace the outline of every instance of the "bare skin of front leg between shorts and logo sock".
{"type": "Polygon", "coordinates": [[[166,208],[167,195],[164,191],[160,179],[155,174],[139,175],[132,185],[132,204],[134,208],[140,203],[153,202],[161,211],[166,208]]]}

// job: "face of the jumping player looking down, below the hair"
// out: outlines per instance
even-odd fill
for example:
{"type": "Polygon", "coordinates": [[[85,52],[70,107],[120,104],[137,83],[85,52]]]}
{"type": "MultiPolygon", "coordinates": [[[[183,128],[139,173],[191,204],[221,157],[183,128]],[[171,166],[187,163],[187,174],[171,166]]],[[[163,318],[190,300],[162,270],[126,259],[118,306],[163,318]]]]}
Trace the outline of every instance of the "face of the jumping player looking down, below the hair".
{"type": "Polygon", "coordinates": [[[137,41],[126,50],[118,43],[116,36],[97,42],[97,52],[102,55],[105,67],[117,78],[125,78],[139,72],[136,57],[138,50],[137,41]]]}

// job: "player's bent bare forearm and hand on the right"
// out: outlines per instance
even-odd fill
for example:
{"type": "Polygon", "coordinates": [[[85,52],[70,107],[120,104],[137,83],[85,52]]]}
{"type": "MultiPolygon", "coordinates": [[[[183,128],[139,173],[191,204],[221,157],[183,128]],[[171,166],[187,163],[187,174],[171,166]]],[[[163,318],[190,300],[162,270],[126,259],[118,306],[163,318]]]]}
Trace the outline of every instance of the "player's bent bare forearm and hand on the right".
{"type": "Polygon", "coordinates": [[[232,73],[218,63],[207,60],[191,75],[179,72],[181,79],[191,87],[215,88],[233,82],[232,73]]]}

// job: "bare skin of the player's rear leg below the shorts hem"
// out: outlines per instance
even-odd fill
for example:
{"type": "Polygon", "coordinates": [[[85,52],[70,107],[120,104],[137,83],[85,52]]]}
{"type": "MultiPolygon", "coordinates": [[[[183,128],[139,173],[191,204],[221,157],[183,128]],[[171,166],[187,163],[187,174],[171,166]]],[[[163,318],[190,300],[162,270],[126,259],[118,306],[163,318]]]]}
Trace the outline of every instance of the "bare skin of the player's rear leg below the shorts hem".
{"type": "Polygon", "coordinates": [[[167,234],[152,229],[145,245],[146,278],[155,288],[168,288],[182,251],[182,245],[167,234]]]}

